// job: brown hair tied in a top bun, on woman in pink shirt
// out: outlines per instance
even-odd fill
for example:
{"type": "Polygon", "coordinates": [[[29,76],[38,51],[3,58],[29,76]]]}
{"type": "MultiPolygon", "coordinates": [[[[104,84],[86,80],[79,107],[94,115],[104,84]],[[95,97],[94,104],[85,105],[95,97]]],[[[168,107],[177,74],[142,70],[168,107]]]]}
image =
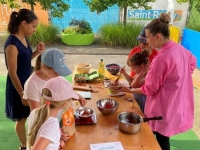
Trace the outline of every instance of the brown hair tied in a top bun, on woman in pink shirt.
{"type": "Polygon", "coordinates": [[[152,20],[147,26],[146,29],[149,30],[154,36],[157,33],[161,33],[164,37],[169,38],[169,22],[171,18],[166,13],[161,13],[160,17],[152,20]]]}

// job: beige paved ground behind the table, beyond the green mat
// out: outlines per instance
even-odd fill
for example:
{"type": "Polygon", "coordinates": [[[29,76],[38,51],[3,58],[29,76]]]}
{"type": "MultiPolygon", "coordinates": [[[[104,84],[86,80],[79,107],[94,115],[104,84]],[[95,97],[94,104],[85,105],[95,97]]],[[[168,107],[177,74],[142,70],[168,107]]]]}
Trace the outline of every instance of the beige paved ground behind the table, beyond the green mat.
{"type": "MultiPolygon", "coordinates": [[[[6,75],[7,70],[5,67],[5,60],[3,54],[3,42],[0,39],[0,75],[6,75]]],[[[119,47],[105,47],[94,43],[90,46],[67,46],[67,45],[51,45],[46,48],[57,48],[62,50],[67,57],[67,64],[71,70],[74,69],[74,65],[77,63],[91,63],[92,68],[97,68],[98,63],[101,58],[104,59],[105,64],[108,63],[118,63],[120,65],[126,64],[127,55],[130,51],[130,48],[119,48],[119,47]]],[[[34,48],[33,48],[34,50],[34,48]]],[[[32,61],[33,65],[35,60],[32,61]]],[[[127,67],[127,70],[130,71],[130,68],[127,67]]],[[[195,95],[195,121],[193,130],[200,138],[200,90],[194,88],[195,95]]]]}

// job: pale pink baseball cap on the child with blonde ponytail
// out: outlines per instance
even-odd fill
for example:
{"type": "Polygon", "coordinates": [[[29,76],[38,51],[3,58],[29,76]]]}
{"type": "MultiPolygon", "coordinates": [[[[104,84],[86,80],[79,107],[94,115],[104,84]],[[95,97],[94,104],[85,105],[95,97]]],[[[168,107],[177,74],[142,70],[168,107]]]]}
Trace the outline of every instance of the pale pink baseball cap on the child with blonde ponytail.
{"type": "Polygon", "coordinates": [[[52,97],[42,94],[42,97],[49,101],[63,101],[70,98],[79,99],[78,94],[73,91],[71,83],[62,76],[51,78],[45,83],[44,88],[51,91],[52,97]]]}

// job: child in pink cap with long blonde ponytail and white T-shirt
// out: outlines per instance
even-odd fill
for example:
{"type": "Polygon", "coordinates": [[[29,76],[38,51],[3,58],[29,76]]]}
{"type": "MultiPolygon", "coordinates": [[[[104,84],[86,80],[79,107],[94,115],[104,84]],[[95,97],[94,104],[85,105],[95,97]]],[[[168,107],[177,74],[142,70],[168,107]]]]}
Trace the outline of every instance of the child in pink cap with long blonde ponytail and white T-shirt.
{"type": "Polygon", "coordinates": [[[58,111],[69,108],[70,100],[79,96],[72,85],[59,76],[48,80],[42,90],[43,105],[31,111],[28,118],[28,149],[59,149],[60,127],[58,111]]]}

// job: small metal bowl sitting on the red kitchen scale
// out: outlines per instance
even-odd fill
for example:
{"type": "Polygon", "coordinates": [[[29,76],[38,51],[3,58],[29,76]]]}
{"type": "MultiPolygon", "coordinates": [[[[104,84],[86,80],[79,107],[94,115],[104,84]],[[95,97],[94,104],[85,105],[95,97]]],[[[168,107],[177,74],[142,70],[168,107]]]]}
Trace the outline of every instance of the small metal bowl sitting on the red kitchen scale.
{"type": "Polygon", "coordinates": [[[94,110],[89,107],[80,107],[75,112],[74,115],[79,118],[90,118],[94,115],[94,110]]]}

